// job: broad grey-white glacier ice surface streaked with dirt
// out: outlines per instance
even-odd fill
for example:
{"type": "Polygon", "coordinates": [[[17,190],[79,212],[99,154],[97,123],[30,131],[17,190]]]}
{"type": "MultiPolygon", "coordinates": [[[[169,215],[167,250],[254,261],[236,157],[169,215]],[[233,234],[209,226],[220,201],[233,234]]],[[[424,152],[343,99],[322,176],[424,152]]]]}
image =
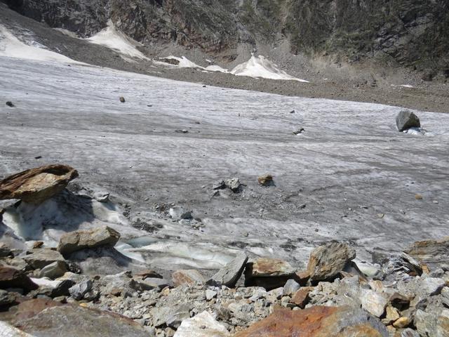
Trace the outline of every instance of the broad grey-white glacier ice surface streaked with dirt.
{"type": "Polygon", "coordinates": [[[65,163],[79,170],[74,183],[112,194],[8,211],[4,223],[27,239],[55,245],[63,230],[110,224],[127,256],[175,269],[220,267],[237,249],[302,265],[329,239],[351,242],[363,265],[373,251],[447,235],[449,114],[416,112],[430,136],[412,135],[397,131],[398,107],[7,57],[0,88],[0,177],[65,163]],[[257,184],[264,173],[275,186],[257,184]],[[215,195],[232,177],[243,192],[215,195]],[[156,209],[172,204],[203,227],[156,209]],[[153,230],[131,227],[136,218],[153,230]]]}

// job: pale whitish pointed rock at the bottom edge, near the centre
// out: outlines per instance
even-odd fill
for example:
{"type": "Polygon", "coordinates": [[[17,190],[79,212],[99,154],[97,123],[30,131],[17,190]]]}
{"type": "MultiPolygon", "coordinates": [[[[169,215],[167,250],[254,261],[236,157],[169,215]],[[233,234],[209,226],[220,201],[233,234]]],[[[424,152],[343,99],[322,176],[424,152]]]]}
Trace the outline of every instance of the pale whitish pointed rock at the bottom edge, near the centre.
{"type": "Polygon", "coordinates": [[[203,311],[182,321],[174,337],[230,337],[225,326],[218,323],[209,312],[203,311]]]}

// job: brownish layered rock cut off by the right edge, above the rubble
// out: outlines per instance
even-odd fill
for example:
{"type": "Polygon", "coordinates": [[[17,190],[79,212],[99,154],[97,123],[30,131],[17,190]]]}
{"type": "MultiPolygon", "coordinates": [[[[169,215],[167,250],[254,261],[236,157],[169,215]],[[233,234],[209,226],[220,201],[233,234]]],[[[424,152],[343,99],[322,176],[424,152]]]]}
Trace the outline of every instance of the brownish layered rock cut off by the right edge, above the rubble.
{"type": "Polygon", "coordinates": [[[449,237],[415,242],[405,252],[424,265],[423,270],[426,270],[426,267],[434,270],[443,265],[449,266],[449,237]]]}

